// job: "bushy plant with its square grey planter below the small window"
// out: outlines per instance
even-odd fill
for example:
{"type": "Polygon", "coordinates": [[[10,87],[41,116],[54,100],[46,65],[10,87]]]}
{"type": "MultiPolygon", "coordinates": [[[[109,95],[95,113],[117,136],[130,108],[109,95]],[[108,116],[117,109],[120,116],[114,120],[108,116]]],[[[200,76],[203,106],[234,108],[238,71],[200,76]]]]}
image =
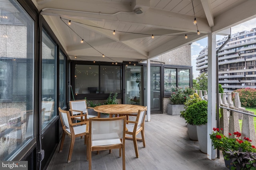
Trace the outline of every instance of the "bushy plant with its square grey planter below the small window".
{"type": "Polygon", "coordinates": [[[174,88],[170,96],[170,104],[167,106],[169,115],[180,115],[184,111],[184,103],[193,94],[192,88],[174,88]]]}

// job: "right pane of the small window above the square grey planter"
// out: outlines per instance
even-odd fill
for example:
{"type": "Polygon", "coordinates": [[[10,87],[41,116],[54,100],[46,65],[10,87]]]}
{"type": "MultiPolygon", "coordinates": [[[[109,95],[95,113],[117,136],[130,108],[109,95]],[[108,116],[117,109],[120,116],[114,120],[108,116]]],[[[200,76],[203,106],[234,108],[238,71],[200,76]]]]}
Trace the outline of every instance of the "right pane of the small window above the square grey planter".
{"type": "Polygon", "coordinates": [[[190,87],[190,69],[178,68],[178,87],[181,87],[181,88],[190,87]]]}

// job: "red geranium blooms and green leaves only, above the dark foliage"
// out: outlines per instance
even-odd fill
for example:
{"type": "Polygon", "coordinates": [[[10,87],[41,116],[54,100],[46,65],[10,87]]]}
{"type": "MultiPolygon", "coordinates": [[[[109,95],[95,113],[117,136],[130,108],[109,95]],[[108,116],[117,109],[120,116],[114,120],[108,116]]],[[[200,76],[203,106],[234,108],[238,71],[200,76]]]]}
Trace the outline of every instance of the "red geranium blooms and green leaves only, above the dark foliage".
{"type": "Polygon", "coordinates": [[[251,140],[248,137],[244,137],[242,140],[241,133],[239,132],[234,132],[233,134],[229,133],[229,137],[226,137],[221,133],[222,130],[222,128],[219,129],[214,127],[213,133],[210,134],[214,149],[221,150],[222,153],[229,149],[232,151],[240,150],[241,152],[256,152],[256,147],[250,143],[251,140]],[[234,136],[234,138],[231,138],[232,136],[234,136]]]}

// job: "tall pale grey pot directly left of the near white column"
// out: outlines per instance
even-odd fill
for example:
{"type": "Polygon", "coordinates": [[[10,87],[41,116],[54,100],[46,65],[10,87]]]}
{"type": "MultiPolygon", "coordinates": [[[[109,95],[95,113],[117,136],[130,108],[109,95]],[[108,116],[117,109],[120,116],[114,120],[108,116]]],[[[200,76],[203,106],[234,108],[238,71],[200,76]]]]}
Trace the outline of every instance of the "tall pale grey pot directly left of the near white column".
{"type": "Polygon", "coordinates": [[[196,126],[198,143],[201,152],[207,153],[207,123],[196,126]]]}

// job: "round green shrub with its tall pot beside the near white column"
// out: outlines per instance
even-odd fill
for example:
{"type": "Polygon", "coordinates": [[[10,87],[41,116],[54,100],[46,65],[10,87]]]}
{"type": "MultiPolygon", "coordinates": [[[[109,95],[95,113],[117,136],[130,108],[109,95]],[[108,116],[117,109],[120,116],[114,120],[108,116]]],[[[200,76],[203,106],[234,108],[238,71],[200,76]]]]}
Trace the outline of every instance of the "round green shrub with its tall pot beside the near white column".
{"type": "Polygon", "coordinates": [[[186,110],[186,117],[196,125],[196,132],[200,150],[207,153],[207,101],[201,100],[190,106],[186,110]]]}

